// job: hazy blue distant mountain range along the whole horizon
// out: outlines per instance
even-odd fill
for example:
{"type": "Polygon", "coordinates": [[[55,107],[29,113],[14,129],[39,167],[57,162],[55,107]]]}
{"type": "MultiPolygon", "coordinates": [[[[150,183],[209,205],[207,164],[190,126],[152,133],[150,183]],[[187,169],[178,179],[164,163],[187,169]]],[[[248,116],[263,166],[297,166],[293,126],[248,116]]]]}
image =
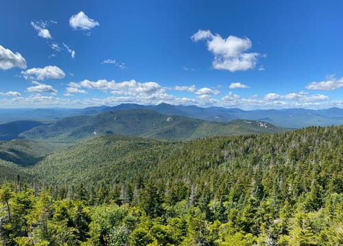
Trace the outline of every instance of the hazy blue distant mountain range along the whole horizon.
{"type": "Polygon", "coordinates": [[[200,108],[197,106],[173,106],[161,103],[156,106],[142,106],[125,103],[119,106],[99,106],[84,109],[0,109],[0,123],[19,120],[54,121],[66,116],[95,115],[110,110],[154,110],[161,114],[187,116],[205,121],[227,122],[234,119],[265,121],[287,128],[300,128],[310,125],[342,125],[343,109],[307,110],[290,108],[283,110],[240,110],[238,108],[200,108]]]}

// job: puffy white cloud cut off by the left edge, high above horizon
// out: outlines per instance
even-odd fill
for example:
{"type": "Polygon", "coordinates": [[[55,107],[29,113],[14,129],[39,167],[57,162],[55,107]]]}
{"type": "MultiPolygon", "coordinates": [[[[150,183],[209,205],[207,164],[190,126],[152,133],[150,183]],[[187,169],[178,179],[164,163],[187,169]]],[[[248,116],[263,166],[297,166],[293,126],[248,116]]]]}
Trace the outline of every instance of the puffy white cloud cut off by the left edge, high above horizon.
{"type": "Polygon", "coordinates": [[[0,45],[0,69],[8,70],[14,66],[26,69],[26,60],[20,53],[13,53],[10,49],[5,49],[0,45]]]}

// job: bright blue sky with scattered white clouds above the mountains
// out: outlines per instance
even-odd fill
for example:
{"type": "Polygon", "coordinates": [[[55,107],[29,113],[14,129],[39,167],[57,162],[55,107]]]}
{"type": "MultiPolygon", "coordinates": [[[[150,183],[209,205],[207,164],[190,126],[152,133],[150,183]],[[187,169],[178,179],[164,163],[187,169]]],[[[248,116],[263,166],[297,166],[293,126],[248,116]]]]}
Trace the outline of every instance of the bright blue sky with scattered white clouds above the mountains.
{"type": "Polygon", "coordinates": [[[0,108],[343,108],[343,1],[0,5],[0,108]]]}

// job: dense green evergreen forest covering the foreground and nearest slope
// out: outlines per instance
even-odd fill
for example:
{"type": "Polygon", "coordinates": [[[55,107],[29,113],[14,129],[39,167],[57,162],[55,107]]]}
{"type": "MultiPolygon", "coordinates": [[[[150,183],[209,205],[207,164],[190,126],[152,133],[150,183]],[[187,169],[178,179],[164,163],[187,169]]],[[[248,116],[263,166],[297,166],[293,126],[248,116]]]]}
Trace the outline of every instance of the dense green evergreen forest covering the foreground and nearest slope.
{"type": "Polygon", "coordinates": [[[342,245],[342,170],[343,126],[94,137],[1,184],[0,242],[342,245]]]}

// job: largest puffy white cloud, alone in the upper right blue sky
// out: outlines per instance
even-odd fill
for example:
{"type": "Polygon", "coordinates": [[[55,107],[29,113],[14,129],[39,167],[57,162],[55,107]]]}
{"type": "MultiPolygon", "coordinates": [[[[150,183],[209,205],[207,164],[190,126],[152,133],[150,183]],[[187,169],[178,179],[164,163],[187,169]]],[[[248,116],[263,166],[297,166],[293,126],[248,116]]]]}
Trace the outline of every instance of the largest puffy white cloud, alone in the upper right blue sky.
{"type": "Polygon", "coordinates": [[[212,34],[209,30],[198,30],[191,36],[194,42],[206,40],[207,49],[214,55],[212,62],[214,69],[228,70],[230,72],[246,71],[255,68],[259,53],[247,53],[252,47],[249,38],[228,36],[222,38],[219,34],[212,34]]]}

